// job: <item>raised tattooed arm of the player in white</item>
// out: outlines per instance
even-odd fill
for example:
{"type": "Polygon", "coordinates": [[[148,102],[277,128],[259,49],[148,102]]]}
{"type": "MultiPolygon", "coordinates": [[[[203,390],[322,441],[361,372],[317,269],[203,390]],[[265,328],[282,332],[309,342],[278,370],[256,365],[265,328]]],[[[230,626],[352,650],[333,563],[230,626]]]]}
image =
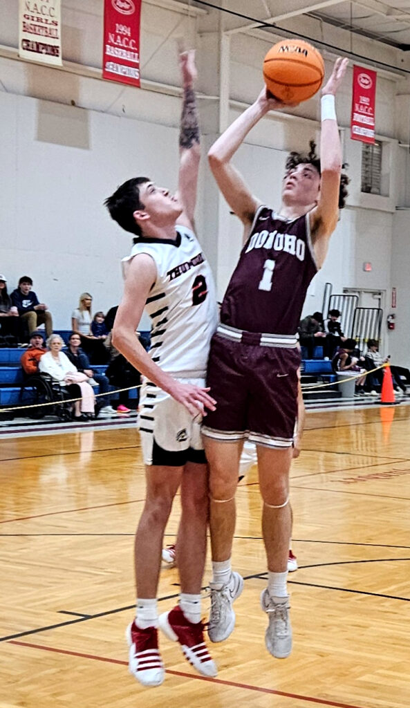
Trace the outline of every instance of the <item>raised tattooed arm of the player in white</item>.
{"type": "Polygon", "coordinates": [[[183,215],[178,222],[193,228],[200,161],[200,131],[193,84],[196,79],[195,52],[181,52],[183,106],[179,133],[180,165],[178,198],[183,204],[183,215]]]}

